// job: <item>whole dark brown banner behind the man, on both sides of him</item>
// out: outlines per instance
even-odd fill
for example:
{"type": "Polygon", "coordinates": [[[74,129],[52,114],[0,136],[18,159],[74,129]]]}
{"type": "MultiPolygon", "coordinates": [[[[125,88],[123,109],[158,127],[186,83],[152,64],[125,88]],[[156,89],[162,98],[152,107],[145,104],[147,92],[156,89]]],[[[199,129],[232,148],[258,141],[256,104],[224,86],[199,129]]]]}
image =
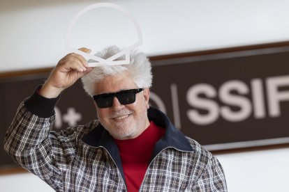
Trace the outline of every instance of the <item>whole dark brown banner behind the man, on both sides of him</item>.
{"type": "MultiPolygon", "coordinates": [[[[152,59],[150,105],[208,150],[289,143],[289,47],[152,59]]],[[[49,72],[0,79],[0,140],[49,72]]],[[[61,95],[54,130],[96,118],[80,81],[61,95]]],[[[0,145],[0,167],[15,164],[0,145]]]]}

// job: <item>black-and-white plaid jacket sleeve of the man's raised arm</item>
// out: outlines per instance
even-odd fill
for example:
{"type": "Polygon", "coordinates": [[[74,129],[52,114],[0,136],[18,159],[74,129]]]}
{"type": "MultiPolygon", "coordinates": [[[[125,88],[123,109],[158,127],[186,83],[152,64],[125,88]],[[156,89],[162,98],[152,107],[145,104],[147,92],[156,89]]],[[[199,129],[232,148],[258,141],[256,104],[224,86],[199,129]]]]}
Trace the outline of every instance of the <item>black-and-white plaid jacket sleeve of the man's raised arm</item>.
{"type": "Polygon", "coordinates": [[[22,102],[17,109],[15,118],[6,132],[4,150],[23,168],[38,175],[54,190],[61,191],[62,173],[75,153],[74,132],[67,130],[58,134],[51,131],[56,102],[50,100],[45,103],[41,100],[44,98],[35,98],[39,97],[36,94],[22,102]],[[52,106],[45,106],[49,104],[52,106]],[[38,113],[37,107],[43,111],[41,106],[45,106],[46,112],[38,113]],[[29,110],[31,107],[34,109],[29,110]]]}

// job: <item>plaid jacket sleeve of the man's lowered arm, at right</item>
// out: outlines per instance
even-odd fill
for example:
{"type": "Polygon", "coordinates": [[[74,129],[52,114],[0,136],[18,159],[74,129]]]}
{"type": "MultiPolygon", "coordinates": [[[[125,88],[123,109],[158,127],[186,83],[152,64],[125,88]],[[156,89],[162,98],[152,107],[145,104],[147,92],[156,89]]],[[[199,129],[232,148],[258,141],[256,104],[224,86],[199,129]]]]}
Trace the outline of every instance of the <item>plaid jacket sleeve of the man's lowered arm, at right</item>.
{"type": "Polygon", "coordinates": [[[193,191],[228,191],[221,163],[216,157],[212,157],[210,160],[207,169],[198,179],[193,191]]]}

